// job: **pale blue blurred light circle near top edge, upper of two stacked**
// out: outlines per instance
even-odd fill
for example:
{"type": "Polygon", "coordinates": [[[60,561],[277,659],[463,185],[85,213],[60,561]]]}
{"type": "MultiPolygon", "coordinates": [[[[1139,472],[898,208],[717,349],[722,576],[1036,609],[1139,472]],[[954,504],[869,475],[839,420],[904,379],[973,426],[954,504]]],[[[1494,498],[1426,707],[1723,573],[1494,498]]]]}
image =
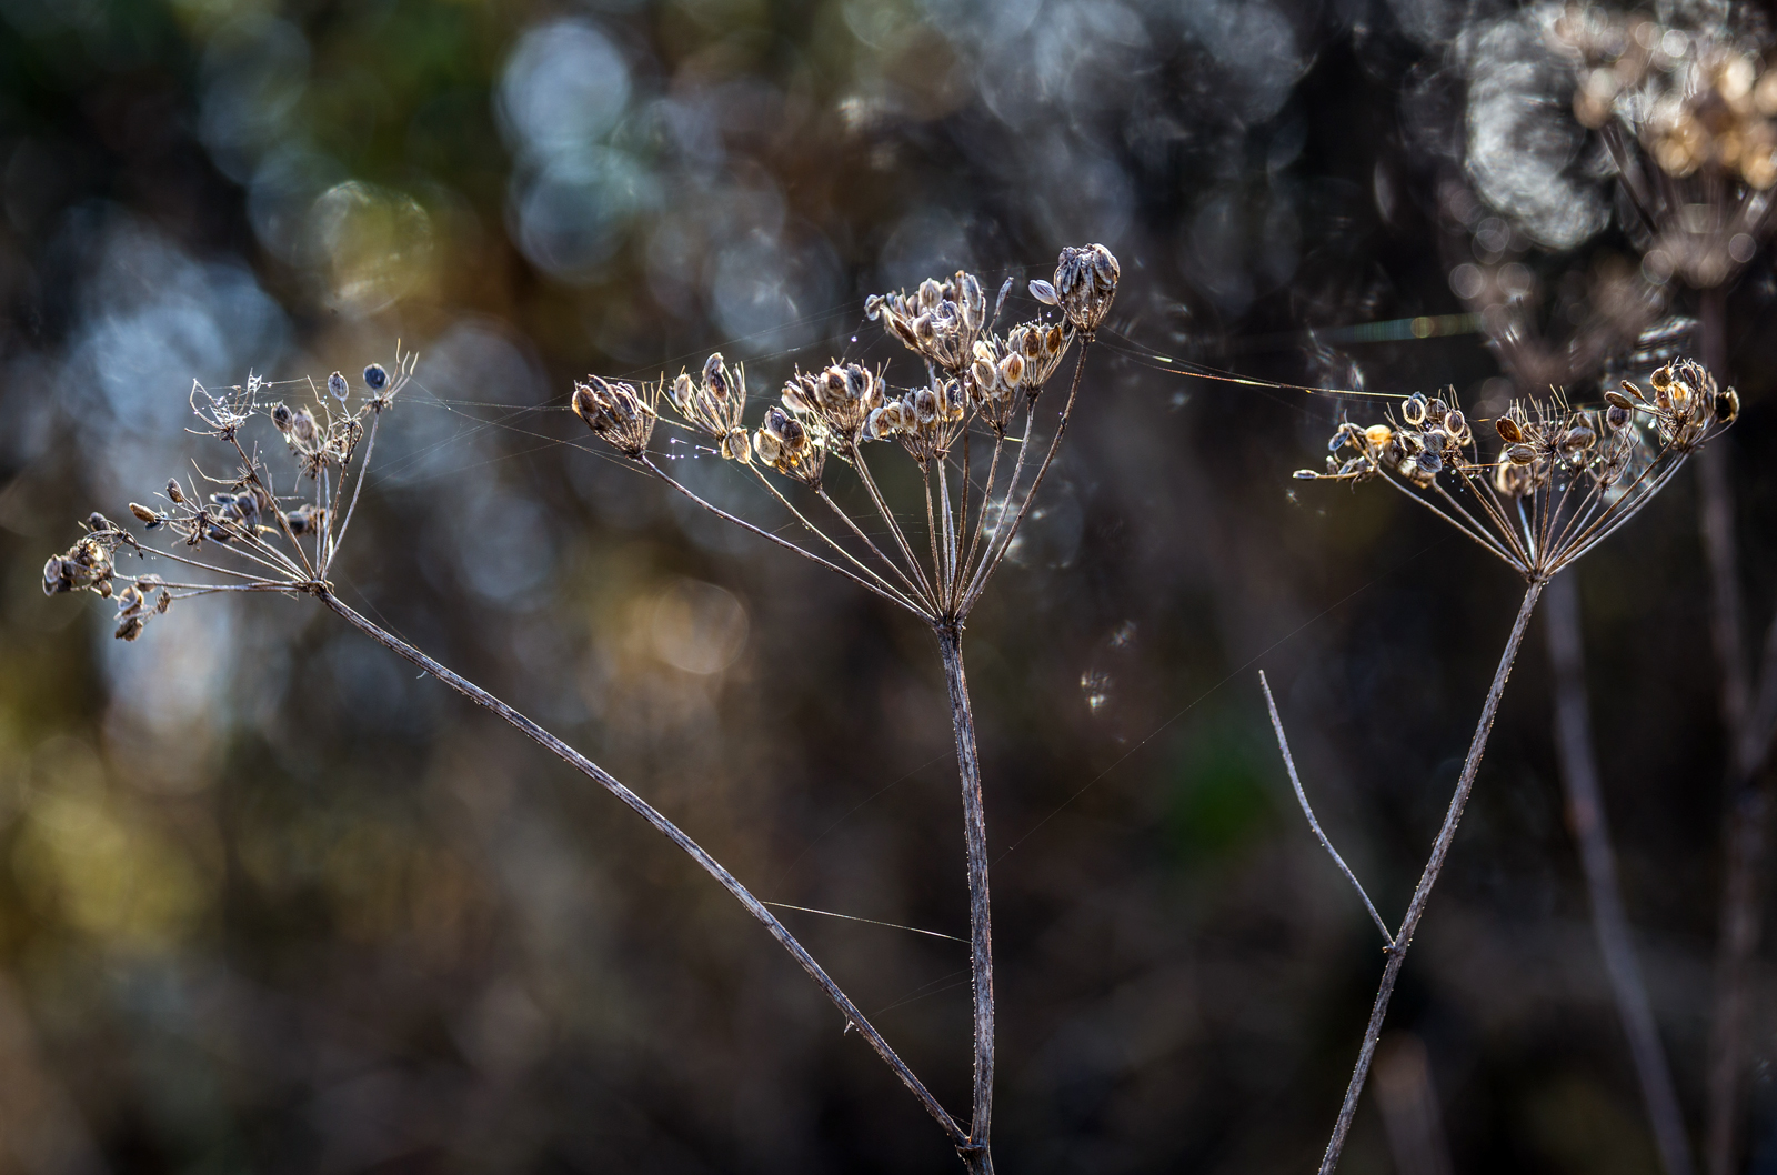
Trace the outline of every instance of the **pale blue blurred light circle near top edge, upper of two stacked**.
{"type": "Polygon", "coordinates": [[[629,66],[586,20],[558,20],[519,37],[499,76],[506,142],[538,160],[601,139],[629,105],[629,66]]]}

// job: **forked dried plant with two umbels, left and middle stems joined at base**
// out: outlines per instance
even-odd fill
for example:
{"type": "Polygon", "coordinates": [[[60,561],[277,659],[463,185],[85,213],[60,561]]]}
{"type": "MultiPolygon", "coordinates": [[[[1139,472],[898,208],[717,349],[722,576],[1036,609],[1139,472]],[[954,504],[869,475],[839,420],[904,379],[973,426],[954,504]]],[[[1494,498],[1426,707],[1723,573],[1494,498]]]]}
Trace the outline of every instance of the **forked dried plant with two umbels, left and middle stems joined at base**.
{"type": "MultiPolygon", "coordinates": [[[[974,1115],[967,1129],[944,1109],[766,903],[684,830],[531,718],[338,597],[329,572],[352,523],[375,453],[377,428],[412,377],[412,354],[398,348],[393,373],[382,364],[366,366],[355,407],[354,391],[339,372],[327,379],[325,391],[313,380],[299,380],[295,386],[306,388],[307,396],[291,396],[291,402],[272,400],[279,388],[290,386],[274,386],[258,377],[220,393],[194,384],[192,411],[201,427],[192,432],[220,441],[231,468],[217,475],[199,471],[185,482],[169,478],[155,505],[130,503],[142,537],[94,512],[87,517],[82,537],[44,564],[43,590],[50,595],[92,592],[116,601],[116,635],[121,640],[137,640],[149,620],[181,599],[258,592],[320,601],[377,643],[494,711],[599,782],[697,860],[796,958],[839,1008],[846,1029],[855,1029],[869,1042],[931,1113],[968,1170],[992,1171],[988,1131],[993,1088],[993,971],[986,823],[960,640],[970,608],[1011,548],[1031,500],[1054,462],[1079,395],[1086,348],[1111,309],[1116,283],[1118,263],[1107,249],[1066,249],[1052,283],[1031,283],[1032,295],[1056,308],[1054,318],[1027,322],[1004,334],[995,332],[988,320],[981,283],[970,274],[958,274],[951,283],[928,281],[915,295],[871,299],[871,315],[881,318],[896,338],[926,359],[926,384],[896,391],[881,372],[835,363],[819,373],[791,380],[782,404],[771,405],[752,432],[743,423],[746,373],[729,368],[720,354],[709,357],[697,379],[686,373],[670,382],[634,388],[590,377],[574,389],[574,412],[641,469],[721,517],[839,571],[933,626],[951,695],[968,851],[976,1083],[974,1115]],[[1066,402],[1056,416],[1041,460],[1025,478],[1027,453],[1036,448],[1036,409],[1045,382],[1075,341],[1080,347],[1066,402]],[[672,478],[649,448],[663,400],[682,427],[707,437],[725,460],[764,482],[825,544],[828,555],[741,521],[672,478]],[[256,434],[263,432],[275,432],[284,443],[291,462],[284,478],[272,473],[270,460],[258,448],[256,434]],[[871,476],[865,450],[878,441],[896,443],[919,468],[926,491],[924,546],[929,549],[929,564],[915,555],[917,544],[903,528],[901,514],[890,508],[871,476]],[[983,450],[974,464],[972,446],[983,450]],[[1016,455],[1002,462],[1008,448],[1016,448],[1016,455]],[[983,480],[976,484],[974,475],[981,473],[983,464],[983,480]],[[1004,484],[1002,464],[1011,466],[1004,484]],[[871,507],[887,524],[892,544],[871,539],[864,524],[832,498],[826,478],[833,466],[855,471],[871,507]],[[812,494],[844,523],[844,535],[821,532],[766,476],[766,469],[812,494]],[[844,537],[855,546],[848,548],[844,537]],[[119,565],[131,556],[142,562],[144,571],[130,574],[119,565]],[[146,571],[158,560],[178,565],[179,572],[162,576],[146,571]]],[[[1009,283],[1000,290],[1000,302],[1008,290],[1009,283]]]]}

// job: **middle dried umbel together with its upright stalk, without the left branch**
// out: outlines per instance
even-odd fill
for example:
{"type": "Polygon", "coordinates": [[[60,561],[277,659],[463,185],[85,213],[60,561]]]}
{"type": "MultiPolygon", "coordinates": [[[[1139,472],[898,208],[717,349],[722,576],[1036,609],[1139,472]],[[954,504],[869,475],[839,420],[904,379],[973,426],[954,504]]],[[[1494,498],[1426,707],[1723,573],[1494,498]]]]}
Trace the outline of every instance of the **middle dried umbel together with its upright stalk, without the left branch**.
{"type": "Polygon", "coordinates": [[[981,763],[961,635],[1056,459],[1079,396],[1088,347],[1111,309],[1118,277],[1118,261],[1104,245],[1063,249],[1054,281],[1031,283],[1031,295],[1054,309],[1004,332],[995,331],[995,324],[1011,290],[1009,279],[992,316],[981,281],[965,272],[949,281],[928,279],[913,293],[871,297],[865,302],[869,316],[919,356],[926,379],[896,388],[883,370],[833,361],[787,380],[752,434],[743,420],[746,372],[730,368],[721,354],[713,354],[697,377],[681,372],[638,388],[590,375],[574,386],[574,412],[640,469],[698,507],[920,617],[936,635],[963,789],[974,1106],[967,1131],[936,1102],[928,1100],[928,1109],[970,1171],[993,1170],[993,931],[981,763]],[[1045,402],[1043,389],[1075,341],[1079,352],[1068,395],[1041,446],[1038,407],[1045,402]],[[759,482],[812,542],[791,542],[736,517],[673,478],[661,455],[650,450],[663,412],[672,412],[668,423],[700,437],[739,476],[759,482]],[[901,508],[890,503],[871,468],[873,453],[896,448],[913,462],[922,491],[901,508]],[[1025,478],[1034,450],[1041,450],[1041,460],[1025,478]],[[858,512],[833,496],[839,469],[848,469],[855,482],[858,492],[853,496],[864,503],[858,512]],[[910,516],[922,517],[924,526],[908,526],[910,516]],[[816,519],[830,521],[823,526],[816,519]],[[887,539],[873,537],[876,526],[887,539]]]}

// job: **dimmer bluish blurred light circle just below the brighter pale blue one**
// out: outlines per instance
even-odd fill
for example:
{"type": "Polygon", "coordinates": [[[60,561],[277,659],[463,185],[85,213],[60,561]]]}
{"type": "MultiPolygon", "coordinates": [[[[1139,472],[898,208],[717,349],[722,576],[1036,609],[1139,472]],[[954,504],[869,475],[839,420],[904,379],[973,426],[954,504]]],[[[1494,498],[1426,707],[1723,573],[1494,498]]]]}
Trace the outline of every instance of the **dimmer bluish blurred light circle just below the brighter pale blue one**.
{"type": "Polygon", "coordinates": [[[652,181],[622,151],[594,148],[556,158],[514,181],[512,215],[519,249],[540,268],[569,281],[622,244],[629,220],[652,203],[652,181]]]}

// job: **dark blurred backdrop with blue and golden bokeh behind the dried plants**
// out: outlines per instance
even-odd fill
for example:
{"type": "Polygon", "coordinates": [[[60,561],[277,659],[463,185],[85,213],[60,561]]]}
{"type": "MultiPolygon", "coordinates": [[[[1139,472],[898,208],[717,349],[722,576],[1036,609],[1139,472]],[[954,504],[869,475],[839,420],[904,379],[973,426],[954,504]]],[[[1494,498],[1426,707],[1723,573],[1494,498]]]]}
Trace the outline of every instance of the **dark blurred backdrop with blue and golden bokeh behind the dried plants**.
{"type": "MultiPolygon", "coordinates": [[[[204,452],[192,379],[352,372],[400,340],[421,364],[345,599],[761,896],[965,933],[929,635],[594,452],[565,391],[713,348],[755,395],[833,354],[901,363],[865,293],[960,265],[993,290],[1091,240],[1121,258],[1114,331],[967,642],[999,1166],[1308,1170],[1383,956],[1295,811],[1256,670],[1398,917],[1519,588],[1381,487],[1290,480],[1379,404],[1167,366],[1454,386],[1486,412],[1510,386],[1461,316],[1489,297],[1477,265],[1560,292],[1557,334],[1599,272],[1693,313],[1637,270],[1530,21],[1487,0],[0,0],[0,1170],[951,1170],[755,923],[505,725],[311,603],[183,604],[123,645],[37,572],[76,517],[204,452]]],[[[1727,300],[1749,642],[1777,592],[1773,295],[1759,251],[1727,300]]],[[[718,462],[677,471],[727,492],[718,462]]],[[[1692,476],[1576,574],[1695,1132],[1724,739],[1692,476]]],[[[1537,626],[1347,1171],[1436,1175],[1439,1147],[1455,1171],[1656,1170],[1551,720],[1537,626]],[[1430,1152],[1388,1129],[1414,1122],[1430,1152]]],[[[965,1104],[965,947],[785,919],[965,1104]]]]}

